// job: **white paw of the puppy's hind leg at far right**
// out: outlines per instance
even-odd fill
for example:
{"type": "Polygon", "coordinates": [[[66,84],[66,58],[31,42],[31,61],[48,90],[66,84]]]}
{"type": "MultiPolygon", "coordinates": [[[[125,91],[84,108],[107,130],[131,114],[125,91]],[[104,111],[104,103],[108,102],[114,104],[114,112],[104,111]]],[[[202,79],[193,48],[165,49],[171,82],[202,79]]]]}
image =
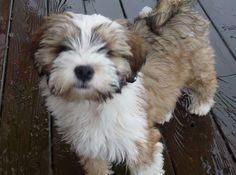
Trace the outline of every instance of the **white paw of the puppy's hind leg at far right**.
{"type": "Polygon", "coordinates": [[[210,112],[213,105],[214,105],[213,99],[209,100],[208,102],[204,102],[204,103],[193,100],[193,102],[189,106],[188,110],[191,114],[204,116],[210,112]]]}

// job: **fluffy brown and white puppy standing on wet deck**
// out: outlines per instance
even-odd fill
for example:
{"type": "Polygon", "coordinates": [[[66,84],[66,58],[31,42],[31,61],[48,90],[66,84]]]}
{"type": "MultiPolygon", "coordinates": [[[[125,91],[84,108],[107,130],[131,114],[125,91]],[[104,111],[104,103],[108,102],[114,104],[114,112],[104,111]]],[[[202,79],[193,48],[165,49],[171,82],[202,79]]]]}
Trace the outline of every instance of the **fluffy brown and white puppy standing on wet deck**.
{"type": "Polygon", "coordinates": [[[49,16],[36,33],[35,63],[46,106],[88,175],[162,175],[154,123],[171,118],[184,87],[205,115],[217,87],[208,22],[187,0],[161,0],[128,25],[101,15],[49,16]],[[145,63],[145,64],[144,64],[145,63]]]}

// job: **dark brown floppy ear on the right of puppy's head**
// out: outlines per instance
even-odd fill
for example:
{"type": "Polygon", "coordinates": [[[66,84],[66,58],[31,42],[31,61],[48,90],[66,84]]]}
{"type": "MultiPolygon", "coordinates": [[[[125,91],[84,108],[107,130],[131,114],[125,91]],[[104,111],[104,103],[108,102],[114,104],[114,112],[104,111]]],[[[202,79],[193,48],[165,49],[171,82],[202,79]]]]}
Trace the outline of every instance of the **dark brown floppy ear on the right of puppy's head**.
{"type": "Polygon", "coordinates": [[[131,47],[131,52],[133,55],[128,57],[131,75],[127,77],[127,82],[132,83],[135,81],[138,71],[140,71],[146,61],[148,46],[143,38],[135,34],[131,34],[129,36],[128,44],[131,47]]]}

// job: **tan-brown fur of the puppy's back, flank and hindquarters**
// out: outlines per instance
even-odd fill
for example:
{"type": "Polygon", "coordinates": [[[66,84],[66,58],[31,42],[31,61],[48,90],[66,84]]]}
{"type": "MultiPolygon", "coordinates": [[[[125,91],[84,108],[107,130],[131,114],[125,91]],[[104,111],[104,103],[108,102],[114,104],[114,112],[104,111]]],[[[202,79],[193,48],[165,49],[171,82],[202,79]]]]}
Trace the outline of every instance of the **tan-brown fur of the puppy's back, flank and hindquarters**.
{"type": "Polygon", "coordinates": [[[190,88],[201,102],[213,99],[217,88],[214,51],[208,22],[188,0],[162,0],[150,16],[138,18],[131,28],[149,42],[144,86],[148,116],[163,123],[173,112],[180,90],[190,88]],[[162,28],[161,34],[150,28],[162,28]]]}

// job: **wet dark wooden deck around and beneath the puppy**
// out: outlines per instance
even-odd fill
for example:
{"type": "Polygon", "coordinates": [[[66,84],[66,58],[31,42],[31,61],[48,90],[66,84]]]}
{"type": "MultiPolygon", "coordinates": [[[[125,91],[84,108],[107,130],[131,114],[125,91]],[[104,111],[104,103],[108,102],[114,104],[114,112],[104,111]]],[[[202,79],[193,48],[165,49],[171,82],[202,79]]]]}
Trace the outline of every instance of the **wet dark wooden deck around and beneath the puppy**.
{"type": "MultiPolygon", "coordinates": [[[[137,16],[156,0],[0,0],[0,175],[82,175],[78,158],[60,141],[38,91],[30,33],[42,16],[65,10],[112,19],[137,16]]],[[[219,89],[206,117],[186,112],[183,94],[175,117],[161,126],[167,175],[236,174],[236,1],[198,0],[211,21],[219,89]]],[[[117,175],[125,175],[122,165],[117,175]]],[[[128,174],[128,173],[127,173],[128,174]]]]}

